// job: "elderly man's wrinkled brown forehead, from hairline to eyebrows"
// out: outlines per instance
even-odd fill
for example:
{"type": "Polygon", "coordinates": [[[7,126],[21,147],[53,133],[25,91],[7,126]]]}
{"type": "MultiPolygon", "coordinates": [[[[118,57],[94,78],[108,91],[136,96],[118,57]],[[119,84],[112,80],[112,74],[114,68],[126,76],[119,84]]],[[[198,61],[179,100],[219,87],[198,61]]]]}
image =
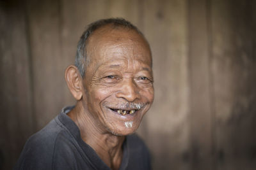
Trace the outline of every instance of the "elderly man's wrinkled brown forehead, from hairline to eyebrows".
{"type": "Polygon", "coordinates": [[[137,31],[124,27],[104,26],[97,29],[88,38],[86,51],[91,64],[113,60],[115,57],[138,57],[152,66],[147,40],[137,31]]]}

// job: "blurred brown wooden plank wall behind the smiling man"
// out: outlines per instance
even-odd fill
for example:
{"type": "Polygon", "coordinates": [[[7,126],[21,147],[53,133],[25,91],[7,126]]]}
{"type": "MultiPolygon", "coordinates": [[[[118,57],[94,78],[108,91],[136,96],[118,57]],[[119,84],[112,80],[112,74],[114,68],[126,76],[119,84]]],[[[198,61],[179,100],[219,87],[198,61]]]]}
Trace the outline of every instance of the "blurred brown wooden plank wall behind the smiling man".
{"type": "Polygon", "coordinates": [[[64,72],[86,25],[124,17],[153,53],[138,134],[154,169],[256,169],[256,1],[0,1],[0,169],[75,104],[64,72]]]}

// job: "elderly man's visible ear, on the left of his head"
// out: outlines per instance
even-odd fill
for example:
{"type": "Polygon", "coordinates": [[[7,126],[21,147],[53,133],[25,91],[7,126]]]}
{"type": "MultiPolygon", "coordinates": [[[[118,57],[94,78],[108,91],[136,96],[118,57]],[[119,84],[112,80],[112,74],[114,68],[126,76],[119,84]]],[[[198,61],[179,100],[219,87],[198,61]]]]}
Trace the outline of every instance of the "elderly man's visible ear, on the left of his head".
{"type": "Polygon", "coordinates": [[[65,80],[68,89],[77,101],[83,97],[83,78],[81,77],[76,66],[68,66],[65,71],[65,80]]]}

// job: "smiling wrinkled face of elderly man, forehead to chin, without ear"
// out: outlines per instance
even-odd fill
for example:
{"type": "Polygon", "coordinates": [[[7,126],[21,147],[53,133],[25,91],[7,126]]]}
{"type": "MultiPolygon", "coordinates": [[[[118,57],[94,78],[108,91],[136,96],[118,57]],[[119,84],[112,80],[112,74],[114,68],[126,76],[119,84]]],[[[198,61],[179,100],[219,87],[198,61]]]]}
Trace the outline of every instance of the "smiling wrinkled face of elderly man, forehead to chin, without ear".
{"type": "Polygon", "coordinates": [[[135,31],[106,26],[93,32],[87,51],[83,101],[88,111],[103,132],[131,134],[154,99],[147,43],[135,31]]]}

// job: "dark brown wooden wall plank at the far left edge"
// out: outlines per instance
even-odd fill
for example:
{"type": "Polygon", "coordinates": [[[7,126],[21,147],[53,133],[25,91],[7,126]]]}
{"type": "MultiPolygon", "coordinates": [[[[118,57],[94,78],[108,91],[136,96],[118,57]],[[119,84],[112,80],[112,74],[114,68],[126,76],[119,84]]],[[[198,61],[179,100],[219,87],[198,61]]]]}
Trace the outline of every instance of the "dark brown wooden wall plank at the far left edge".
{"type": "Polygon", "coordinates": [[[33,132],[26,19],[22,4],[0,5],[0,169],[12,169],[33,132]]]}

